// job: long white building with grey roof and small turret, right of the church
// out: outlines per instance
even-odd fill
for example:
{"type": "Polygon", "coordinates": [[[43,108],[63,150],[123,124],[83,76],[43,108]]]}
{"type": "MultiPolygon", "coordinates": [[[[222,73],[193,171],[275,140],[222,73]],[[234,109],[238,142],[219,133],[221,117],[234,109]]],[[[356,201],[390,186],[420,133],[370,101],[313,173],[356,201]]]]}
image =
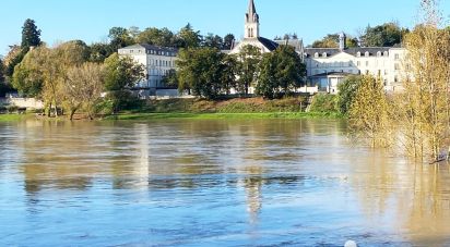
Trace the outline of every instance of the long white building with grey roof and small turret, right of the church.
{"type": "Polygon", "coordinates": [[[401,87],[404,75],[402,61],[406,50],[400,47],[346,48],[345,35],[340,35],[340,48],[305,48],[308,81],[321,90],[338,92],[345,76],[372,75],[383,79],[387,90],[401,87]]]}

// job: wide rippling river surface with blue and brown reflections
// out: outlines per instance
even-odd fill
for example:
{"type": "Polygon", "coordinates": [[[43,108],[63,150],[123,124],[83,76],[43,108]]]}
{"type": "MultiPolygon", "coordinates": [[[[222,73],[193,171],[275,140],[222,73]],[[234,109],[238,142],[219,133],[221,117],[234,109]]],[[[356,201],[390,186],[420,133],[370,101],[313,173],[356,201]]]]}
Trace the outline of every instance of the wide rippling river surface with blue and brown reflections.
{"type": "Polygon", "coordinates": [[[340,121],[27,121],[0,144],[2,246],[450,245],[449,166],[340,121]]]}

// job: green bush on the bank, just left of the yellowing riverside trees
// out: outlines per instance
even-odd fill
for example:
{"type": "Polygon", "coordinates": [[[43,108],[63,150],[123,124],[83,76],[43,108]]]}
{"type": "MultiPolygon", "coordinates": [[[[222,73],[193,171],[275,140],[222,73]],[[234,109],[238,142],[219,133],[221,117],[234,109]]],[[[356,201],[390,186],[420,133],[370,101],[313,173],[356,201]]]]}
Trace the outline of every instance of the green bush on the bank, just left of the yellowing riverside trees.
{"type": "Polygon", "coordinates": [[[348,113],[363,78],[360,75],[350,75],[338,85],[338,108],[342,114],[348,113]]]}

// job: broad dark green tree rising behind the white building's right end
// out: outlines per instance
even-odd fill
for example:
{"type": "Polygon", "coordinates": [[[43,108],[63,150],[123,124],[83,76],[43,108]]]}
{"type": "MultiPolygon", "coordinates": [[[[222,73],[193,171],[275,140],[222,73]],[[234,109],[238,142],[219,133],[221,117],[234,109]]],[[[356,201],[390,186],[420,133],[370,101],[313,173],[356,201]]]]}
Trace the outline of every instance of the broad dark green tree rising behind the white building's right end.
{"type": "Polygon", "coordinates": [[[408,32],[396,23],[384,23],[375,27],[368,26],[362,40],[366,47],[392,47],[401,44],[404,35],[408,32]]]}

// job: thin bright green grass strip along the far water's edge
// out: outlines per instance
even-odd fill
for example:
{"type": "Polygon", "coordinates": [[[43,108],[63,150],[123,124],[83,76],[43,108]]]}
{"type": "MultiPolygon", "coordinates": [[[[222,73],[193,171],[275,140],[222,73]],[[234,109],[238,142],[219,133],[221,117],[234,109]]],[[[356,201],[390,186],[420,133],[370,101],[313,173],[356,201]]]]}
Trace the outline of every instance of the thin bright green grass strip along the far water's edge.
{"type": "Polygon", "coordinates": [[[249,119],[340,119],[342,115],[321,112],[279,113],[129,113],[107,116],[106,120],[249,120],[249,119]]]}

